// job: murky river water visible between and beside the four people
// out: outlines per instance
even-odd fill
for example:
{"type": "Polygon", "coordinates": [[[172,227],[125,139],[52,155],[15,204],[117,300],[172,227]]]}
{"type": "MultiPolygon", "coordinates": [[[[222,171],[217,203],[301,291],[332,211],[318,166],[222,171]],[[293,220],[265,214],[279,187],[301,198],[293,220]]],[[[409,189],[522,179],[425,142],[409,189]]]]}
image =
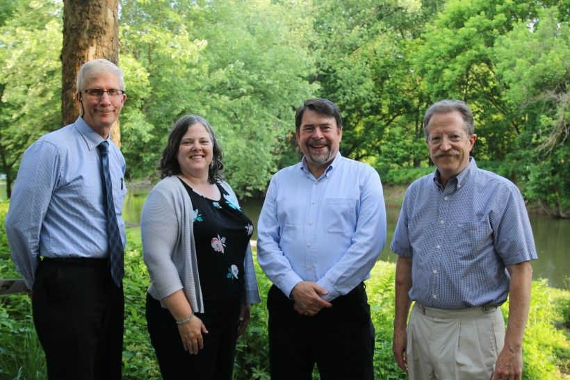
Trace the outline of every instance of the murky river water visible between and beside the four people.
{"type": "MultiPolygon", "coordinates": [[[[145,203],[147,192],[129,192],[125,199],[123,216],[128,225],[137,225],[140,221],[140,211],[145,203]]],[[[253,199],[241,202],[241,207],[254,222],[255,229],[252,239],[257,239],[257,220],[263,201],[253,199]]],[[[380,260],[396,263],[396,255],[390,251],[390,242],[396,222],[400,215],[399,207],[386,209],[387,236],[386,247],[380,254],[380,260]]],[[[548,279],[548,285],[555,288],[570,288],[570,263],[568,247],[570,247],[570,220],[552,219],[546,215],[531,213],[530,223],[535,236],[535,244],[539,259],[532,262],[533,278],[548,279]]]]}

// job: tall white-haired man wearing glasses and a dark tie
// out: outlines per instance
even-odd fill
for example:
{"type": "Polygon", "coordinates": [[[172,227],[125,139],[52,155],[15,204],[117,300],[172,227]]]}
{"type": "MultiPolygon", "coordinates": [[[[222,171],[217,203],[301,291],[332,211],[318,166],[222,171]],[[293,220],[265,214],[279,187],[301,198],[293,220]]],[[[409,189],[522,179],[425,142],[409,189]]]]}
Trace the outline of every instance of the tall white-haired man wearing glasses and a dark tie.
{"type": "Polygon", "coordinates": [[[73,124],[22,158],[6,215],[16,269],[32,296],[49,379],[120,379],[125,161],[111,126],[127,95],[104,59],[77,75],[73,124]]]}

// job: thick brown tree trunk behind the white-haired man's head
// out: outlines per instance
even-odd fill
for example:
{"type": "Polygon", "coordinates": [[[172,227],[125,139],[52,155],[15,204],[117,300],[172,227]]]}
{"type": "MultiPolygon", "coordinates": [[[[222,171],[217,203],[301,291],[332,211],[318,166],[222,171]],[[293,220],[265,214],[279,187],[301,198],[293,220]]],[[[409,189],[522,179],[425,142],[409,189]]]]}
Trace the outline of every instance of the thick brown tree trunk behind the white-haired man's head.
{"type": "MultiPolygon", "coordinates": [[[[63,0],[61,113],[63,125],[79,115],[74,99],[77,72],[83,63],[119,59],[119,1],[63,0]]],[[[111,127],[111,140],[120,146],[119,120],[111,127]]]]}

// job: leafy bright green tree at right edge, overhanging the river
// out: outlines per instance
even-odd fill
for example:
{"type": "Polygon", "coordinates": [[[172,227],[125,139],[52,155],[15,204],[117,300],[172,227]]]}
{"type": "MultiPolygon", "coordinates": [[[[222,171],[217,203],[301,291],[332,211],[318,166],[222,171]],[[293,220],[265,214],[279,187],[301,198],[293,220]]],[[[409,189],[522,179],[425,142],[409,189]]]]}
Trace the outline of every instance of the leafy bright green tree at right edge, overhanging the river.
{"type": "Polygon", "coordinates": [[[540,9],[532,24],[521,21],[494,47],[497,72],[507,89],[503,98],[526,119],[519,163],[523,195],[553,215],[570,209],[569,91],[570,27],[557,8],[540,9]]]}

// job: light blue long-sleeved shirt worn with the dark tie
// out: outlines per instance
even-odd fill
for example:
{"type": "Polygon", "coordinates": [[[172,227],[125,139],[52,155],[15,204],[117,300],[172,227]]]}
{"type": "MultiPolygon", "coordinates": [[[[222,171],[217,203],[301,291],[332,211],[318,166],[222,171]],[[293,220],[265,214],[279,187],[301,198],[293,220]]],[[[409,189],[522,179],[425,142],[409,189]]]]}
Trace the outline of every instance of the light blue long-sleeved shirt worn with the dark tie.
{"type": "MultiPolygon", "coordinates": [[[[15,267],[32,288],[38,255],[108,256],[106,215],[97,145],[104,139],[81,117],[42,136],[26,151],[6,215],[6,235],[15,267]]],[[[113,201],[124,245],[124,158],[109,142],[113,201]]]]}

